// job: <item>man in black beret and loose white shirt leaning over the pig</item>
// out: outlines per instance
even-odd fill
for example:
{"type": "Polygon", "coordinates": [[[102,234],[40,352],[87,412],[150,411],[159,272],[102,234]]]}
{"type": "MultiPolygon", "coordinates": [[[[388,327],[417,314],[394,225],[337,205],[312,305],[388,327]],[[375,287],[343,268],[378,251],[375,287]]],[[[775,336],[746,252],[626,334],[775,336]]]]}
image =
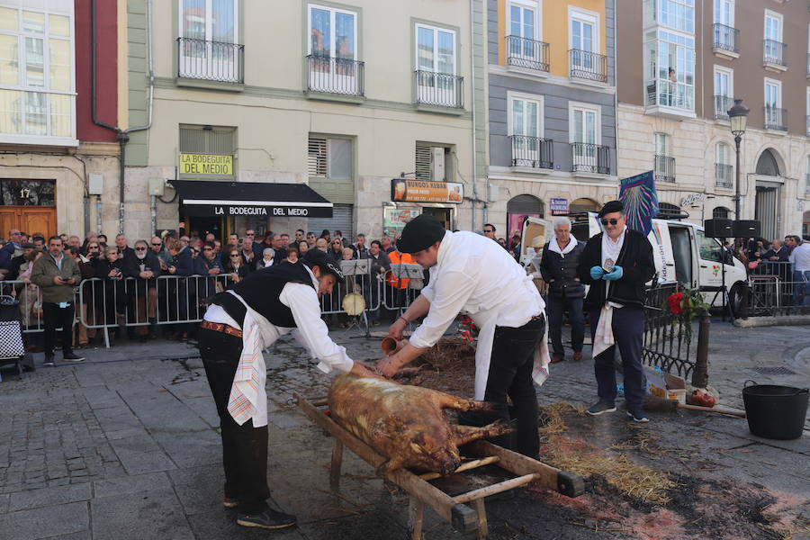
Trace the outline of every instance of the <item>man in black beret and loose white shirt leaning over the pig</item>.
{"type": "MultiPolygon", "coordinates": [[[[413,320],[427,314],[410,343],[377,364],[391,377],[433,347],[460,311],[480,329],[475,354],[475,399],[503,405],[498,415],[509,420],[507,398],[518,419],[515,450],[536,458],[537,397],[535,383],[548,376],[545,303],[522,266],[503,247],[473,232],[450,232],[427,214],[402,229],[397,247],[414,262],[430,268],[430,280],[419,297],[394,321],[389,335],[402,338],[413,320]],[[538,344],[541,347],[538,347],[538,344]]],[[[465,416],[461,421],[485,425],[493,418],[465,416]]],[[[511,437],[493,442],[511,447],[511,437]]]]}

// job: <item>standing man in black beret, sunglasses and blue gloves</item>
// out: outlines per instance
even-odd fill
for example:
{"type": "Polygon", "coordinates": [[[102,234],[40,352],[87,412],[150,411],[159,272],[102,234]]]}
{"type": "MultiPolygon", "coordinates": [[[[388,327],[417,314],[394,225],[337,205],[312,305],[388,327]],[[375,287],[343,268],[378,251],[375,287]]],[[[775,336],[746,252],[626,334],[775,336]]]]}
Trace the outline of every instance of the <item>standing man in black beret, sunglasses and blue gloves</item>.
{"type": "Polygon", "coordinates": [[[604,232],[590,238],[577,267],[583,284],[590,285],[585,297],[593,337],[593,364],[599,387],[599,401],[587,411],[592,416],[616,410],[616,346],[622,355],[625,374],[627,416],[636,422],[644,415],[644,284],[655,274],[653,246],[644,234],[628,229],[624,206],[611,201],[599,211],[604,232]]]}

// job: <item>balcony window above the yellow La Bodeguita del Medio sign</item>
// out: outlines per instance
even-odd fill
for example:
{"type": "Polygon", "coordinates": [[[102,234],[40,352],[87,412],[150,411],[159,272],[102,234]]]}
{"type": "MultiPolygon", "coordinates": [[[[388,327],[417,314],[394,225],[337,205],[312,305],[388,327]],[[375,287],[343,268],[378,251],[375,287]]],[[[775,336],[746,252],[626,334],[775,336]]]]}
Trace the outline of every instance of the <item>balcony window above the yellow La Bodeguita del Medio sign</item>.
{"type": "Polygon", "coordinates": [[[179,74],[240,83],[238,0],[180,0],[179,74]]]}

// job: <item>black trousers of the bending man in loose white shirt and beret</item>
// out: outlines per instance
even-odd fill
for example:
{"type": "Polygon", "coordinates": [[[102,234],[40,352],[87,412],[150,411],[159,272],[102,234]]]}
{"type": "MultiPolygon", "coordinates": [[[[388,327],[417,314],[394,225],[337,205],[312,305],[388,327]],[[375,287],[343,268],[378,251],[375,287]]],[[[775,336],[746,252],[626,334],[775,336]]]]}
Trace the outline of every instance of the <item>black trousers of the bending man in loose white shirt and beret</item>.
{"type": "Polygon", "coordinates": [[[540,437],[537,433],[538,407],[532,370],[535,351],[545,333],[545,318],[533,319],[519,328],[496,327],[492,344],[490,374],[484,401],[498,403],[500,409],[493,414],[463,413],[459,422],[472,426],[485,426],[494,419],[509,422],[518,420],[518,432],[495,437],[493,443],[514,449],[520,454],[537,457],[540,437]],[[511,398],[512,407],[508,408],[511,398]]]}

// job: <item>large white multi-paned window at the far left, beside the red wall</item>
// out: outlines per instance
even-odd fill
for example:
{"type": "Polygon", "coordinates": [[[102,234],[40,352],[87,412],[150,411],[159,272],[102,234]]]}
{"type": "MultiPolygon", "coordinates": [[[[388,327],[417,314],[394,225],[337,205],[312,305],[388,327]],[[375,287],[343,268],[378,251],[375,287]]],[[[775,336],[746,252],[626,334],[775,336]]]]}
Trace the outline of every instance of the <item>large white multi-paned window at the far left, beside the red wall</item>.
{"type": "Polygon", "coordinates": [[[0,61],[0,141],[74,145],[72,12],[0,7],[0,61]]]}

